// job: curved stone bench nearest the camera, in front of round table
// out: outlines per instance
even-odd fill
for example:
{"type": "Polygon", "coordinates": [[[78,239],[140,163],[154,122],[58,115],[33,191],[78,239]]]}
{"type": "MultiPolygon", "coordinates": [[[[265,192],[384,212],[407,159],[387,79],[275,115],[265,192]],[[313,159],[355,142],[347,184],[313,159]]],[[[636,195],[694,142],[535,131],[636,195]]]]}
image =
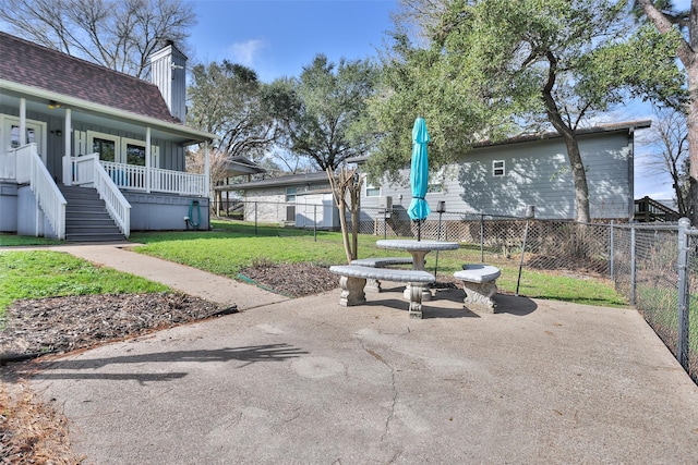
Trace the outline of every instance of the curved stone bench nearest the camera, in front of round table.
{"type": "Polygon", "coordinates": [[[424,284],[435,281],[432,273],[421,270],[400,270],[394,268],[372,268],[360,265],[335,265],[329,271],[339,274],[339,305],[350,307],[366,303],[364,287],[366,280],[385,280],[410,284],[410,318],[422,318],[422,291],[424,284]]]}

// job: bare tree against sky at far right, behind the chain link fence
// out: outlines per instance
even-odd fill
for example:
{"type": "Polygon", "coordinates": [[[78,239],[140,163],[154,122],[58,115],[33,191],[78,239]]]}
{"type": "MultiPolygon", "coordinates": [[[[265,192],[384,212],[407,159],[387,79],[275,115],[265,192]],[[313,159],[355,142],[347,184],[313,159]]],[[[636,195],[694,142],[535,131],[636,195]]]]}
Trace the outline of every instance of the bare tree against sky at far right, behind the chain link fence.
{"type": "Polygon", "coordinates": [[[684,170],[688,162],[688,126],[686,113],[672,108],[654,108],[655,121],[649,131],[647,143],[653,148],[648,166],[667,173],[678,212],[688,215],[688,192],[684,170]]]}

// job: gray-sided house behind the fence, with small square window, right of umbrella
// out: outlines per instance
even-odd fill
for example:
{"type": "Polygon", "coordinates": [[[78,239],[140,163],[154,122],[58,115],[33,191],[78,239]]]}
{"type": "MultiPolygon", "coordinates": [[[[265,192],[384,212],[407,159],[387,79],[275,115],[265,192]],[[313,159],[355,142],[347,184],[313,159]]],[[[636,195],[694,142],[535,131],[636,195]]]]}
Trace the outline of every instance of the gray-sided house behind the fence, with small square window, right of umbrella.
{"type": "MultiPolygon", "coordinates": [[[[635,121],[578,131],[587,170],[593,219],[629,220],[634,215],[634,135],[650,126],[635,121]]],[[[361,163],[364,159],[356,159],[361,163]]],[[[393,208],[406,210],[411,200],[409,171],[404,185],[366,185],[362,216],[375,216],[390,197],[393,208]],[[373,209],[373,210],[372,210],[373,209]]],[[[575,186],[565,143],[557,133],[520,136],[480,145],[457,164],[431,174],[426,201],[432,211],[445,201],[446,211],[535,218],[575,219],[575,186]]]]}

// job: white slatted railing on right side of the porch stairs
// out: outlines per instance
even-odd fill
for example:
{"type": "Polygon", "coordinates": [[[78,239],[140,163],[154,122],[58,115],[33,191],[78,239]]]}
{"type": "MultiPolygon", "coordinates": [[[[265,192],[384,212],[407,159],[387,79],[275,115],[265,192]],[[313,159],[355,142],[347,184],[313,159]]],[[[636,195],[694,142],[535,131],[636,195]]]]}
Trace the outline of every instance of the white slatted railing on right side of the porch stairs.
{"type": "Polygon", "coordinates": [[[111,218],[123,235],[129,237],[131,234],[131,204],[99,162],[98,154],[63,157],[63,180],[65,184],[91,184],[95,187],[99,197],[105,200],[111,218]]]}

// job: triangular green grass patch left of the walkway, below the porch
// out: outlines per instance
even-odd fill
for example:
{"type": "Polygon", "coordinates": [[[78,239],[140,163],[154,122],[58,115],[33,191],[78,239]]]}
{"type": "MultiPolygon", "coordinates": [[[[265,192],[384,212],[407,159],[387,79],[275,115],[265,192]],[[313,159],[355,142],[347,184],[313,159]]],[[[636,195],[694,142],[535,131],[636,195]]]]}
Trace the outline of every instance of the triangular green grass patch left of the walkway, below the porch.
{"type": "Polygon", "coordinates": [[[0,317],[20,298],[64,295],[164,292],[166,285],[111,268],[96,267],[69,254],[0,249],[0,317]]]}

